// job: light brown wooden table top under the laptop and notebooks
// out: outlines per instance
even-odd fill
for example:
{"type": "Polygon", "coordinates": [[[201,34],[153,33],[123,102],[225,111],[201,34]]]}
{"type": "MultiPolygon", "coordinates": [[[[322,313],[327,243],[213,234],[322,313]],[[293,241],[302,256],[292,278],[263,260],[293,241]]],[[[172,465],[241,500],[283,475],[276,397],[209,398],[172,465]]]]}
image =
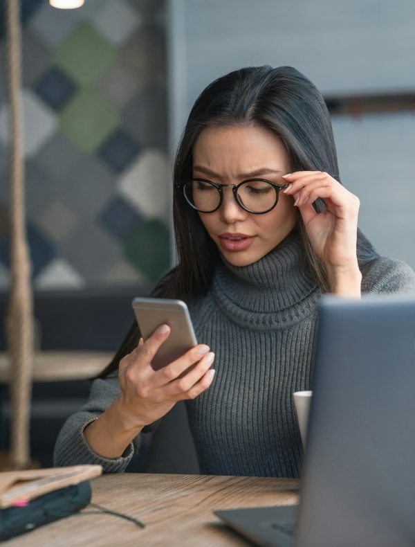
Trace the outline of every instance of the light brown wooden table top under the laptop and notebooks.
{"type": "MultiPolygon", "coordinates": [[[[5,542],[5,546],[244,546],[212,513],[217,509],[297,503],[297,481],[282,478],[107,474],[91,481],[94,503],[140,519],[69,517],[5,542]]],[[[91,510],[86,508],[85,511],[91,510]]]]}

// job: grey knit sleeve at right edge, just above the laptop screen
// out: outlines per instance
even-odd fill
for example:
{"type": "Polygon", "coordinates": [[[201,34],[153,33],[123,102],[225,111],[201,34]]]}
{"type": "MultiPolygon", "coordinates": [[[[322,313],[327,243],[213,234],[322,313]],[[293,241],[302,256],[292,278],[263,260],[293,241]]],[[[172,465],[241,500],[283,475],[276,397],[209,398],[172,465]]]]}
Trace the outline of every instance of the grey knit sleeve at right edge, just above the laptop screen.
{"type": "Polygon", "coordinates": [[[362,269],[362,292],[415,294],[415,272],[401,260],[376,258],[362,269]]]}

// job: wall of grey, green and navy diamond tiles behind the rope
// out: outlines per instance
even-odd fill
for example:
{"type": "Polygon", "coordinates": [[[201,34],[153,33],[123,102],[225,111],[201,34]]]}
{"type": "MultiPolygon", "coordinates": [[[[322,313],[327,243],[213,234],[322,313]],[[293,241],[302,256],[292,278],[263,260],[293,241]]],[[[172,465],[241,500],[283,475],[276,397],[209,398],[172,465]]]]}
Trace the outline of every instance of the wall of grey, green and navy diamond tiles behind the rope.
{"type": "MultiPolygon", "coordinates": [[[[5,67],[4,1],[0,55],[5,67]]],[[[153,282],[169,267],[165,4],[23,0],[28,239],[35,289],[153,282]],[[137,181],[140,181],[137,184],[137,181]]],[[[8,274],[5,73],[0,285],[8,274]]]]}

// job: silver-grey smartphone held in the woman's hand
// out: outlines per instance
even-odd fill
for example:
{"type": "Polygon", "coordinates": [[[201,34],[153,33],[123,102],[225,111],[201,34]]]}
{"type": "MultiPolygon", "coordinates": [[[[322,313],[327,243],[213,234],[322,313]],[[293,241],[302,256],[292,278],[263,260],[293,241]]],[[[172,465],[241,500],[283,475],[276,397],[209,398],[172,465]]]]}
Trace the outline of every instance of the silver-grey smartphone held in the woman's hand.
{"type": "Polygon", "coordinates": [[[172,363],[185,352],[197,346],[187,305],[170,298],[134,298],[133,310],[143,339],[147,340],[163,323],[172,329],[151,361],[154,370],[172,363]]]}

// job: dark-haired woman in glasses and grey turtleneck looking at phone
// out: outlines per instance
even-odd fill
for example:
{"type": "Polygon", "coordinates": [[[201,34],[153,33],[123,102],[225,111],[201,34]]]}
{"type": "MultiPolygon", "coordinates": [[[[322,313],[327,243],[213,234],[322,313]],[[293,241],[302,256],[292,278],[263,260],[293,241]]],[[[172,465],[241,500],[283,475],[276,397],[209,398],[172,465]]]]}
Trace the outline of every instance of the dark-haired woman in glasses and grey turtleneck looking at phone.
{"type": "Polygon", "coordinates": [[[138,343],[133,325],[64,425],[55,464],[122,471],[142,428],[185,400],[201,473],[298,476],[292,393],[310,388],[321,294],[415,292],[414,272],[358,231],[358,208],[304,75],[261,66],[210,84],[176,156],[178,265],[155,290],[187,302],[203,343],[154,372],[169,327],[138,343]]]}

